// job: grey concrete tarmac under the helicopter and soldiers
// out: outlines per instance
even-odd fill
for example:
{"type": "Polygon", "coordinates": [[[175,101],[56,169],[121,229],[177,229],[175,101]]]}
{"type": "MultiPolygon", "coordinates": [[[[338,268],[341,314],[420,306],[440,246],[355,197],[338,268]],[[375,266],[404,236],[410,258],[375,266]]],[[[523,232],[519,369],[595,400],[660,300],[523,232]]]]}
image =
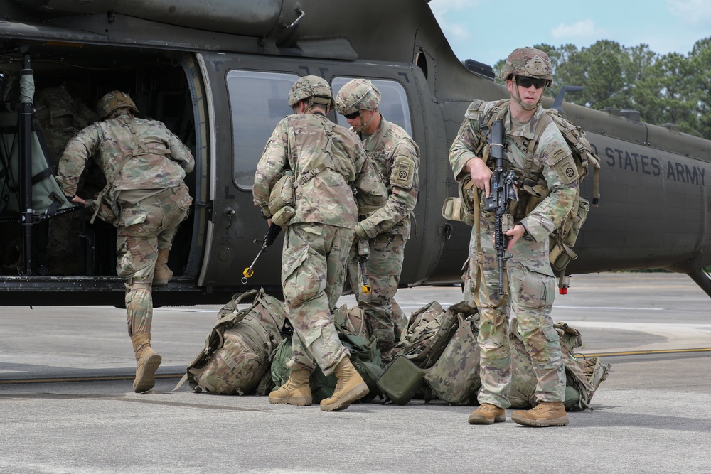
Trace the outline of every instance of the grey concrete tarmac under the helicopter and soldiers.
{"type": "MultiPolygon", "coordinates": [[[[461,300],[400,290],[406,313],[461,300]]],[[[343,303],[352,306],[353,296],[343,303]]],[[[226,303],[226,302],[225,302],[226,303]]],[[[472,406],[271,405],[171,392],[203,348],[216,306],[157,308],[154,391],[132,392],[124,311],[0,308],[0,473],[708,473],[711,312],[673,274],[574,276],[553,312],[611,372],[570,425],[467,424],[472,406]]]]}

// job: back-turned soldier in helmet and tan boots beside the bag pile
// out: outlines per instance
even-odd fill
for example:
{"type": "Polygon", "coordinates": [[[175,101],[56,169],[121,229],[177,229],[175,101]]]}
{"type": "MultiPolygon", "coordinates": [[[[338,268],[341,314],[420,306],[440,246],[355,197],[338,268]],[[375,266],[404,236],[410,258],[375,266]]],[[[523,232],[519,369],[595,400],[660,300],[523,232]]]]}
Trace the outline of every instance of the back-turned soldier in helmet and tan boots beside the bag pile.
{"type": "Polygon", "coordinates": [[[294,173],[295,213],[284,224],[282,250],[282,287],[294,327],[294,357],[287,364],[289,380],[269,394],[269,403],[310,405],[309,376],[318,364],[324,374],[336,372],[338,377],[333,397],[321,401],[323,411],[346,409],[368,394],[368,385],[338,339],[332,313],[343,290],[358,217],[351,188],[363,205],[378,208],[385,203],[385,187],[358,137],[326,118],[333,105],[331,87],[321,77],[301,77],[294,83],[289,92],[294,114],[274,129],[253,188],[262,214],[272,217],[273,210],[276,218],[281,211],[269,209],[270,195],[284,171],[294,173]]]}

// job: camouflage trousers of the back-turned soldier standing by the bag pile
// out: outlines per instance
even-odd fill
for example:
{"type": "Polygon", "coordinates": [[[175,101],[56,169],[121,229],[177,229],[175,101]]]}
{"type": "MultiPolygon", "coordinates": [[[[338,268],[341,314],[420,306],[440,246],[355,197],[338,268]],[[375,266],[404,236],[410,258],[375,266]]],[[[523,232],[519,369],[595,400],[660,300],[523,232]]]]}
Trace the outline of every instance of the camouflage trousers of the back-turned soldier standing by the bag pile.
{"type": "Polygon", "coordinates": [[[343,291],[353,230],[303,222],[289,225],[282,250],[282,288],[294,327],[287,367],[319,365],[329,375],[348,355],[333,325],[332,309],[343,291]]]}

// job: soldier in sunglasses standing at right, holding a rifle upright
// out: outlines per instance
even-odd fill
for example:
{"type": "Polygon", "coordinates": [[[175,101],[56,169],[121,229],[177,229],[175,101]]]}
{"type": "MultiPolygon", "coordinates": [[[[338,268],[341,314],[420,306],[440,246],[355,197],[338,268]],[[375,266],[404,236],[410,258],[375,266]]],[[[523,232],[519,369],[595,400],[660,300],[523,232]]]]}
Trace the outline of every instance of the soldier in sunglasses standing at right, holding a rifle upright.
{"type": "MultiPolygon", "coordinates": [[[[472,229],[465,295],[468,303],[478,303],[481,315],[478,342],[482,388],[481,405],[469,416],[469,423],[506,421],[504,409],[510,406],[507,395],[511,382],[508,318],[515,315],[512,323],[530,354],[538,378],[535,395],[539,404],[528,411],[515,411],[512,419],[528,426],[565,426],[568,424],[562,404],[565,372],[558,335],[550,318],[555,288],[548,261],[548,236],[572,208],[577,171],[570,149],[555,124],[550,122],[538,137],[534,134],[538,120],[545,113],[540,105],[543,90],[552,80],[548,56],[534,48],[518,48],[508,56],[499,77],[506,80],[510,92],[510,107],[503,118],[504,171],[513,169],[516,176],[522,176],[528,143],[538,139],[533,170],[545,181],[548,195],[506,232],[508,252],[513,254],[506,261],[508,298],[498,293],[493,210],[485,210],[482,204],[481,235],[477,234],[476,224],[472,229]],[[483,262],[477,262],[477,244],[481,245],[483,262]],[[478,295],[474,295],[479,281],[481,288],[478,295]],[[506,301],[497,307],[501,298],[506,301]]],[[[471,176],[476,187],[483,191],[479,193],[481,198],[482,194],[489,195],[492,170],[475,150],[481,141],[480,119],[496,102],[485,102],[483,112],[479,104],[475,101],[469,107],[449,150],[449,161],[458,181],[471,176]]],[[[518,194],[518,205],[525,205],[528,195],[521,186],[518,186],[518,194]]]]}

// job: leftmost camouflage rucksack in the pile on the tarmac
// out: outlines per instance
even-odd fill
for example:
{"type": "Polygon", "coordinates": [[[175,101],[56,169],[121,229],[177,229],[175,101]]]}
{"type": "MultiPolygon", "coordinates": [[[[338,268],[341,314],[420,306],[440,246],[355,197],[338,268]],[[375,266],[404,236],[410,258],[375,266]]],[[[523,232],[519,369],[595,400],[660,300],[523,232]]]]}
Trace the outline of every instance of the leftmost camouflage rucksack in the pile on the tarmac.
{"type": "Polygon", "coordinates": [[[195,392],[213,394],[267,394],[273,384],[269,374],[274,352],[282,343],[279,329],[287,311],[282,301],[264,289],[235,295],[218,312],[218,321],[205,338],[205,348],[188,365],[187,380],[195,392]],[[237,306],[254,296],[252,304],[237,306]]]}

